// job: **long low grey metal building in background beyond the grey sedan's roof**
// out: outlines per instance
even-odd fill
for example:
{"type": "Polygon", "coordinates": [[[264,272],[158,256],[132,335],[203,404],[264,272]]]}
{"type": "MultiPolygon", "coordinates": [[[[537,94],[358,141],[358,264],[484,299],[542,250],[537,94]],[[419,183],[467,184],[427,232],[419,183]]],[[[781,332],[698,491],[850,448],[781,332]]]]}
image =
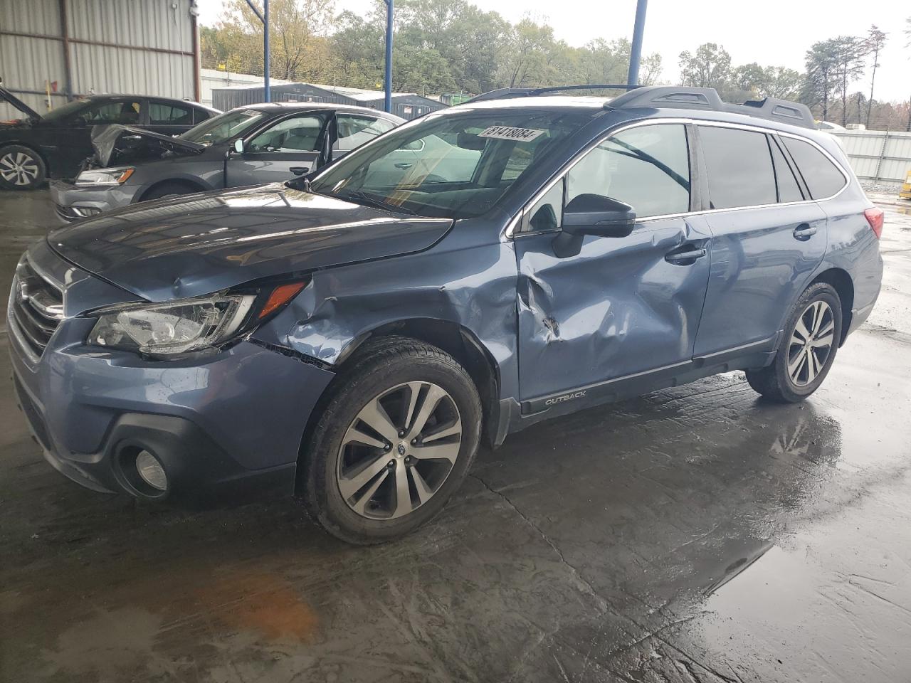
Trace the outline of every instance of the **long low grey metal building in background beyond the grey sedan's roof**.
{"type": "MultiPolygon", "coordinates": [[[[272,102],[330,102],[338,105],[359,107],[384,107],[384,95],[380,90],[361,90],[353,87],[334,87],[319,83],[284,83],[269,88],[272,102]]],[[[234,107],[253,105],[265,101],[263,86],[217,87],[212,89],[212,107],[227,111],[234,107]]],[[[395,116],[417,118],[443,109],[445,105],[416,93],[393,93],[395,116]]]]}

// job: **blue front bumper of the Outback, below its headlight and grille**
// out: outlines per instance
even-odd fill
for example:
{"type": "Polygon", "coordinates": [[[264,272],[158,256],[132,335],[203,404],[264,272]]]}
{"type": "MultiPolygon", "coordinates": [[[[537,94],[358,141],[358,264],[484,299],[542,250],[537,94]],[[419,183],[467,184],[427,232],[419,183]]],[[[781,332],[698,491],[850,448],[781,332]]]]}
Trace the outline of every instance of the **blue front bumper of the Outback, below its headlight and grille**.
{"type": "Polygon", "coordinates": [[[190,507],[293,493],[304,427],[332,372],[254,342],[148,361],[87,346],[94,322],[67,315],[36,356],[7,315],[16,397],[58,471],[190,507]],[[139,450],[164,466],[164,494],[138,481],[139,450]]]}

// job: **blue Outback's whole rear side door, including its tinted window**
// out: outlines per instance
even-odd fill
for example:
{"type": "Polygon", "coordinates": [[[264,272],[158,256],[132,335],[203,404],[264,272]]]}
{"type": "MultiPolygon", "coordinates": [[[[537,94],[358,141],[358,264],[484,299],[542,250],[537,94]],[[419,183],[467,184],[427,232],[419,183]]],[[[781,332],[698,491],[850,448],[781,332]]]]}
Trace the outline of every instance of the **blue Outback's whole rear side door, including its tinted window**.
{"type": "Polygon", "coordinates": [[[771,351],[791,301],[823,259],[825,213],[777,136],[700,125],[712,232],[709,289],[695,355],[771,351]]]}

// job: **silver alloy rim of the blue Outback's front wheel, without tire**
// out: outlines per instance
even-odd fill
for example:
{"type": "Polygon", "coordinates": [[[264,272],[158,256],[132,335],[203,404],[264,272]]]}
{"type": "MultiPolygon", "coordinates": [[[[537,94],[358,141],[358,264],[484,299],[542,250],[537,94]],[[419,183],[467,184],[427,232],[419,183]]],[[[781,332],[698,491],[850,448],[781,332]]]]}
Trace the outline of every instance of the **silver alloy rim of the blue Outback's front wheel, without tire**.
{"type": "Polygon", "coordinates": [[[452,472],[462,418],[431,382],[406,382],[368,401],[344,434],[337,483],[345,503],[369,519],[394,519],[429,501],[452,472]]]}

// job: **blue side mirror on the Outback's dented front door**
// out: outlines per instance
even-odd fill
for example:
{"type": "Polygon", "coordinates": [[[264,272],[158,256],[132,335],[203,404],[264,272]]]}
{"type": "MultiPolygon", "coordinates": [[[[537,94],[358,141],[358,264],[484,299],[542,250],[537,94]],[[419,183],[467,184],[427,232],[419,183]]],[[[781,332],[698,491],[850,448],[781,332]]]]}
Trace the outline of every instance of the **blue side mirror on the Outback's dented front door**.
{"type": "Polygon", "coordinates": [[[554,239],[559,258],[575,256],[584,235],[626,237],[636,226],[636,212],[629,204],[601,195],[578,195],[563,209],[562,232],[554,239]]]}

